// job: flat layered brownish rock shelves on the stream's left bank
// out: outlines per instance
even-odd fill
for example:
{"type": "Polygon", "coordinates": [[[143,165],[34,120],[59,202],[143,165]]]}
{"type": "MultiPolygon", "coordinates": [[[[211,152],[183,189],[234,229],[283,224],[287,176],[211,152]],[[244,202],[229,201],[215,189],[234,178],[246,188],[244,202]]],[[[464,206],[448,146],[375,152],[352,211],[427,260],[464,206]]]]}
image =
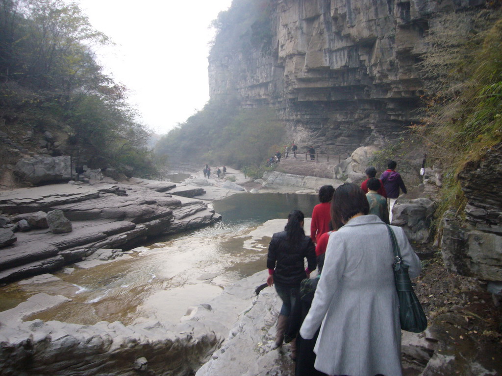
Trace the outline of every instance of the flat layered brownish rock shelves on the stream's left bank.
{"type": "Polygon", "coordinates": [[[166,194],[172,183],[149,184],[56,184],[0,192],[0,211],[5,214],[60,210],[72,226],[62,234],[34,227],[17,232],[16,240],[4,234],[0,282],[57,270],[100,248],[131,249],[148,238],[221,218],[207,202],[166,194]]]}

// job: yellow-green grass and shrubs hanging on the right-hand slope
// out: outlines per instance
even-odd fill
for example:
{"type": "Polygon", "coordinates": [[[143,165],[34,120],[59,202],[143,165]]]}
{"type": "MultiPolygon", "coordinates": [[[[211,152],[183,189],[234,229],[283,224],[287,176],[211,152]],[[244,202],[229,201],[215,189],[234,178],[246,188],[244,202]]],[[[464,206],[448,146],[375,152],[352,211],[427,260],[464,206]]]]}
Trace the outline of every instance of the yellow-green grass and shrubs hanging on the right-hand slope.
{"type": "Polygon", "coordinates": [[[436,20],[434,47],[421,63],[428,85],[424,122],[414,130],[427,143],[432,164],[443,171],[437,218],[466,200],[458,172],[502,142],[502,12],[455,13],[436,20]]]}

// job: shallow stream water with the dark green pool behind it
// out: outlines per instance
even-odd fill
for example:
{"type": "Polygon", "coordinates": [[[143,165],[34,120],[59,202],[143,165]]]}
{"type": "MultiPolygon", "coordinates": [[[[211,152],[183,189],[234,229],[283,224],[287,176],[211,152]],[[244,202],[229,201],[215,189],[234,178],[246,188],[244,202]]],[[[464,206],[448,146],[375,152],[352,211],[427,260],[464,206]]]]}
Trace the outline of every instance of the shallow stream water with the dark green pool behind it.
{"type": "MultiPolygon", "coordinates": [[[[58,281],[2,287],[0,310],[46,292],[71,301],[27,319],[78,324],[177,322],[189,306],[208,302],[224,286],[264,270],[270,237],[284,228],[288,213],[300,209],[310,217],[317,203],[316,195],[297,194],[237,194],[215,201],[221,222],[157,239],[92,268],[70,265],[55,274],[58,281]]],[[[305,230],[308,233],[308,221],[305,230]]]]}

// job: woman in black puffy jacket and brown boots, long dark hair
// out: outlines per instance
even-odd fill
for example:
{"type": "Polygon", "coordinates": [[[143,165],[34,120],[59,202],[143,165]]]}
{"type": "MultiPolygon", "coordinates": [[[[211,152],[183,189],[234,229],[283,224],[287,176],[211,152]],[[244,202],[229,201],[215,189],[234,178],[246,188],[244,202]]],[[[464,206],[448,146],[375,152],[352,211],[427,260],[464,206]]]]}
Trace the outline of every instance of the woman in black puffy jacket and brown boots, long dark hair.
{"type": "Polygon", "coordinates": [[[304,215],[301,211],[292,211],[288,215],[284,231],[275,233],[269,245],[267,284],[276,285],[276,291],[283,301],[277,320],[276,347],[283,343],[288,316],[298,299],[300,282],[308,278],[309,273],[316,268],[315,246],[310,237],[305,236],[303,220],[304,215]],[[305,258],[307,258],[307,269],[304,266],[305,258]]]}

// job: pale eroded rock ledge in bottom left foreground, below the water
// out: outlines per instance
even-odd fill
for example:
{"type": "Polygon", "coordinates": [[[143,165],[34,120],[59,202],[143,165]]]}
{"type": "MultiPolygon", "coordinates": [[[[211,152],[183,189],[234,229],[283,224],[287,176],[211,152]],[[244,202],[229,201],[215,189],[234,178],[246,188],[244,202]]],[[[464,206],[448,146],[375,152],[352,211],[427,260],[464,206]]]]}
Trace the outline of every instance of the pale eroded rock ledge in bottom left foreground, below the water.
{"type": "Polygon", "coordinates": [[[263,271],[225,288],[215,299],[191,307],[177,324],[23,322],[24,317],[68,300],[34,295],[0,313],[0,374],[193,374],[219,348],[239,314],[252,305],[256,285],[266,276],[263,271]]]}

